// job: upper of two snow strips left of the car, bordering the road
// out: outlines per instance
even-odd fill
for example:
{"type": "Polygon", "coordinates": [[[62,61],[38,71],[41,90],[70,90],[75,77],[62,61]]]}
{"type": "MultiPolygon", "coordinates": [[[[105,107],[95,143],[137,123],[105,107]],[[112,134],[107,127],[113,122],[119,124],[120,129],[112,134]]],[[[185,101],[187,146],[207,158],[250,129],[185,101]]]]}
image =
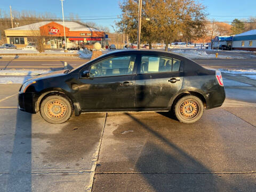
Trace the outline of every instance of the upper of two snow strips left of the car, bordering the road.
{"type": "Polygon", "coordinates": [[[0,76],[36,76],[44,73],[50,73],[51,70],[33,70],[33,69],[6,69],[0,70],[0,76]]]}

